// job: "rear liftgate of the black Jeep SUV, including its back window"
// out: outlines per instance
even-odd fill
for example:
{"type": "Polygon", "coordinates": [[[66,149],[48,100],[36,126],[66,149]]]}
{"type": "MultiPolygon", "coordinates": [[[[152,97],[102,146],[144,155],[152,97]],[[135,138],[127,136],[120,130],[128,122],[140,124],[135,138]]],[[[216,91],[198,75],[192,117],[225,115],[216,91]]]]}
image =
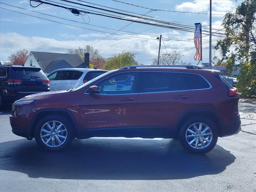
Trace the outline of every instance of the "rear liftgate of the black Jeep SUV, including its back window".
{"type": "Polygon", "coordinates": [[[16,81],[16,90],[20,93],[48,91],[48,80],[40,68],[11,67],[10,79],[16,81]]]}

